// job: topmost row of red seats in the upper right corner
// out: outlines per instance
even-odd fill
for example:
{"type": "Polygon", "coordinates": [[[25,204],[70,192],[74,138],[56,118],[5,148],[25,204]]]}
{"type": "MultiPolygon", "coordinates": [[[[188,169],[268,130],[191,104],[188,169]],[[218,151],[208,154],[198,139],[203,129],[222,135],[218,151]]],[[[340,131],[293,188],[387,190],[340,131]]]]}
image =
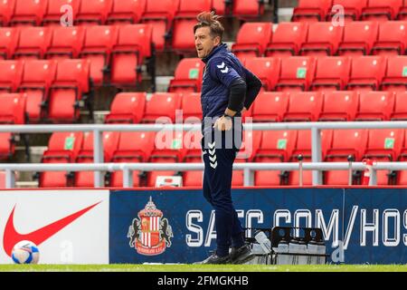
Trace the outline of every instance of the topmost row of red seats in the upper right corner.
{"type": "Polygon", "coordinates": [[[292,21],[329,21],[338,13],[345,20],[402,20],[407,18],[405,0],[299,0],[292,21]],[[342,9],[337,9],[341,5],[342,9]]]}

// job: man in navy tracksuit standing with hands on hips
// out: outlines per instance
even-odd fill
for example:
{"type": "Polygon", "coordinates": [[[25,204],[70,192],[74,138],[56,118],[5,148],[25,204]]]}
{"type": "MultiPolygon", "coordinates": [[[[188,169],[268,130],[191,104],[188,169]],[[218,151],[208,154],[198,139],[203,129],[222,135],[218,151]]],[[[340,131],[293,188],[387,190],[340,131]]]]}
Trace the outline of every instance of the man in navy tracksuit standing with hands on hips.
{"type": "Polygon", "coordinates": [[[241,113],[260,92],[260,80],[222,43],[218,16],[199,14],[194,26],[196,51],[205,63],[201,103],[204,198],[215,210],[216,251],[202,264],[241,264],[253,257],[232,204],[232,165],[241,147],[241,113]],[[230,247],[232,251],[230,252],[230,247]]]}

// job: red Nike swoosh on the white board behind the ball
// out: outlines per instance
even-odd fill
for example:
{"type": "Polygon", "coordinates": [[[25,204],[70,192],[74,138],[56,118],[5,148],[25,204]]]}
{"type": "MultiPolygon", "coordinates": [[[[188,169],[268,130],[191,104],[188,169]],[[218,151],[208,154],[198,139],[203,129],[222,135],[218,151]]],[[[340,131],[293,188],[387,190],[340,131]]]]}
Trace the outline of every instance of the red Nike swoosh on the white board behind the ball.
{"type": "Polygon", "coordinates": [[[48,238],[58,233],[60,230],[62,230],[63,227],[67,227],[75,219],[80,218],[80,216],[90,211],[90,209],[95,208],[97,205],[99,205],[100,202],[101,201],[95,203],[94,205],[88,208],[83,208],[80,211],[77,211],[68,217],[61,218],[45,227],[41,227],[28,234],[20,234],[15,230],[14,227],[15,206],[14,206],[10,214],[10,217],[8,217],[7,223],[5,224],[5,235],[3,236],[3,247],[5,248],[5,253],[8,256],[11,256],[11,252],[13,250],[14,245],[22,240],[29,240],[32,241],[35,245],[40,246],[43,243],[43,241],[47,240],[48,238]]]}

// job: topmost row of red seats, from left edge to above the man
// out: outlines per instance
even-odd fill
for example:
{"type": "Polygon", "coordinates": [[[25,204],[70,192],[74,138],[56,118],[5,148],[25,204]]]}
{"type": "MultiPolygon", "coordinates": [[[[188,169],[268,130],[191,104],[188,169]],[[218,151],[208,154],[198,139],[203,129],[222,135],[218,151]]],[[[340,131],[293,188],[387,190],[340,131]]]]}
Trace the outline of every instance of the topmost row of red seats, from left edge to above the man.
{"type": "Polygon", "coordinates": [[[232,14],[252,18],[264,11],[263,2],[258,0],[8,0],[0,4],[0,24],[60,25],[61,19],[69,19],[63,5],[71,6],[75,25],[152,24],[157,50],[165,48],[170,34],[175,50],[185,49],[185,44],[188,50],[193,49],[191,32],[200,12],[214,9],[225,14],[232,5],[232,14]]]}

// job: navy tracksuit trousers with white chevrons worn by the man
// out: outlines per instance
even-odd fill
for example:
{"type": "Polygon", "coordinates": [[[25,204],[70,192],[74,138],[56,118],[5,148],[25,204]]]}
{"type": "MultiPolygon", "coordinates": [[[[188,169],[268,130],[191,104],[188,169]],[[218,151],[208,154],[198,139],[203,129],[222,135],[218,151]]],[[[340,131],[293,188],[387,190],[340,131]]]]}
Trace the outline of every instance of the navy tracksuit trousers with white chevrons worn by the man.
{"type": "Polygon", "coordinates": [[[238,130],[212,129],[204,132],[204,198],[215,210],[216,253],[229,255],[229,247],[244,245],[241,222],[232,203],[232,165],[241,147],[241,123],[238,130]],[[232,141],[233,140],[233,141],[232,141]]]}

